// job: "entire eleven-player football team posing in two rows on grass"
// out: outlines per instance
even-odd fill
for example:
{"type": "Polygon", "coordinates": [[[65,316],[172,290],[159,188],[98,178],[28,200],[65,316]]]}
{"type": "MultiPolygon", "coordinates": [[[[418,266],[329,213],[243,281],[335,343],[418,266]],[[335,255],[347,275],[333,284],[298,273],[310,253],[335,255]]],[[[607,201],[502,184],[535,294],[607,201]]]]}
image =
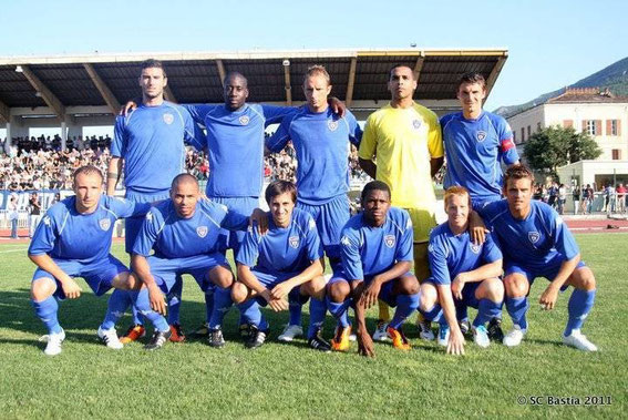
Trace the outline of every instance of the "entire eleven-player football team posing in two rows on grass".
{"type": "Polygon", "coordinates": [[[62,350],[59,303],[80,297],[76,277],[96,296],[114,289],[97,328],[106,347],[122,349],[142,338],[146,321],[154,328],[147,350],[185,340],[184,274],[205,296],[206,321],[195,334],[217,348],[225,346],[223,320],[231,306],[248,348],[264,345],[269,331],[261,306],[289,313],[279,340],[305,336],[320,351],[347,351],[352,339],[363,356],[374,356],[373,340],[409,350],[402,326],[414,311],[421,339],[436,339],[449,354],[464,354],[465,335],[482,348],[492,340],[514,347],[528,328],[529,287],[545,277],[543,309],[554,309],[558,294],[572,286],[562,341],[597,350],[580,331],[595,300],[594,274],[560,216],[532,199],[534,176],[519,163],[511,127],[482,109],[482,74],[461,76],[462,111],[439,120],[413,101],[412,69],[395,65],[388,81],[391,101],[368,117],[363,131],[330,96],[321,65],[305,74],[307,101],[300,107],[247,103],[247,80],[237,72],[225,78],[224,104],[173,104],[164,101],[167,75],[156,60],[143,63],[138,84],[142,100],[116,117],[106,175],[94,166],[76,170],[75,195],[47,212],[29,247],[37,265],[32,305],[48,329],[45,355],[62,350]],[[279,127],[265,139],[269,124],[279,127]],[[265,212],[257,208],[264,153],[288,142],[297,182],[270,183],[265,212]],[[347,195],[350,143],[375,180],[361,191],[353,216],[347,195]],[[186,144],[208,154],[205,192],[184,173],[186,144]],[[445,155],[447,221],[436,226],[432,177],[445,155]],[[124,198],[113,196],[122,173],[124,198]],[[120,218],[131,267],[110,253],[120,218]],[[326,267],[330,275],[323,275],[326,267]],[[301,307],[308,300],[303,334],[301,307]],[[379,320],[371,336],[366,310],[374,305],[379,320]],[[505,335],[503,306],[513,320],[505,335]],[[473,320],[469,307],[477,309],[473,320]],[[116,322],[130,308],[133,325],[119,337],[116,322]],[[328,311],[337,319],[329,340],[322,334],[328,311]]]}

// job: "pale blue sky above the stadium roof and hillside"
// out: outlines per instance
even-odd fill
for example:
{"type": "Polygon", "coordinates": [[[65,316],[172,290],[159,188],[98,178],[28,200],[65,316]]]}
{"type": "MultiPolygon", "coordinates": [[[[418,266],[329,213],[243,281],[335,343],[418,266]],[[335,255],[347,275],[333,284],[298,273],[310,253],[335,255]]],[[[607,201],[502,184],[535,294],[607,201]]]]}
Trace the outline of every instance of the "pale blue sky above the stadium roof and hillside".
{"type": "Polygon", "coordinates": [[[507,48],[488,110],[628,55],[628,2],[4,0],[0,55],[341,48],[507,48]],[[233,3],[233,4],[231,4],[233,3]],[[10,34],[10,35],[8,35],[10,34]]]}

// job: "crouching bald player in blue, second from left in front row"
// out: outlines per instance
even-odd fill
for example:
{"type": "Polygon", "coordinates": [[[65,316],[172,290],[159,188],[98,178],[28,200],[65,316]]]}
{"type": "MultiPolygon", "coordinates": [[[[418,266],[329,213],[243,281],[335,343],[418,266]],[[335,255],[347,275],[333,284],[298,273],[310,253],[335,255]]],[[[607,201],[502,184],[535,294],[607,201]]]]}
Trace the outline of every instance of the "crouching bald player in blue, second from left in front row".
{"type": "MultiPolygon", "coordinates": [[[[189,174],[172,182],[171,198],[151,208],[133,245],[131,264],[144,284],[134,294],[137,309],[155,327],[147,350],[161,348],[171,337],[164,297],[176,277],[192,275],[204,293],[214,285],[228,288],[234,276],[225,255],[218,249],[222,228],[244,231],[249,218],[226,206],[200,197],[198,182],[189,174]],[[154,254],[151,255],[151,253],[154,254]]],[[[219,337],[210,337],[212,340],[219,337]]]]}

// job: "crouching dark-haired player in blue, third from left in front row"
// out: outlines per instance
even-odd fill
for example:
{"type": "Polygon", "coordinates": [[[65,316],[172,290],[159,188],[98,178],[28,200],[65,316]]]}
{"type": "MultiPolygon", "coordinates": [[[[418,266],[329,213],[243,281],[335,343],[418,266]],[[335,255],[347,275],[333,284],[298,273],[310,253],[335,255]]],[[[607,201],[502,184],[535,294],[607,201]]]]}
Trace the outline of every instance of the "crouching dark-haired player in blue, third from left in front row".
{"type": "Polygon", "coordinates": [[[286,310],[286,298],[292,291],[301,300],[311,297],[308,344],[313,349],[330,351],[320,334],[327,311],[322,244],[313,218],[295,208],[296,201],[297,188],[292,183],[270,183],[266,188],[270,207],[268,232],[261,236],[249,227],[236,256],[238,283],[231,289],[231,298],[251,324],[248,348],[261,346],[268,334],[268,322],[259,304],[270,305],[276,311],[286,310]]]}

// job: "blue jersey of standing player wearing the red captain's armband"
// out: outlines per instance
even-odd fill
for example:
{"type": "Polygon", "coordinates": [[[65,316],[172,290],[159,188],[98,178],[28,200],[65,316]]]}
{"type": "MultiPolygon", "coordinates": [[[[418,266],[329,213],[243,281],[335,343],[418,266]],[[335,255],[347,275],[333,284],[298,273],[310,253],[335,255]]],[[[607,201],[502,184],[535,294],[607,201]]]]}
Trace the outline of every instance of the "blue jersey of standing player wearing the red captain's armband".
{"type": "Polygon", "coordinates": [[[444,187],[464,186],[474,203],[500,199],[501,162],[511,165],[519,158],[506,120],[486,111],[466,120],[457,112],[444,115],[441,126],[447,160],[444,187]]]}

